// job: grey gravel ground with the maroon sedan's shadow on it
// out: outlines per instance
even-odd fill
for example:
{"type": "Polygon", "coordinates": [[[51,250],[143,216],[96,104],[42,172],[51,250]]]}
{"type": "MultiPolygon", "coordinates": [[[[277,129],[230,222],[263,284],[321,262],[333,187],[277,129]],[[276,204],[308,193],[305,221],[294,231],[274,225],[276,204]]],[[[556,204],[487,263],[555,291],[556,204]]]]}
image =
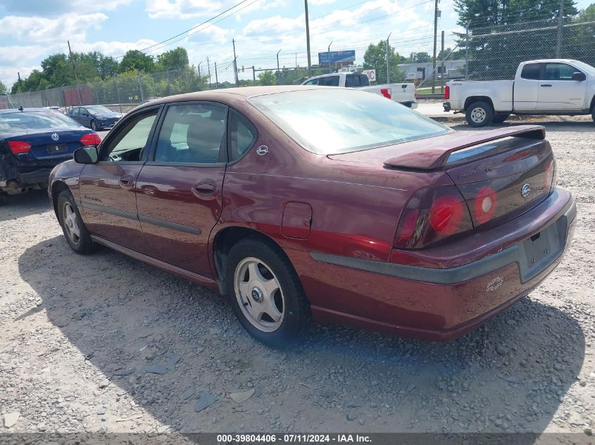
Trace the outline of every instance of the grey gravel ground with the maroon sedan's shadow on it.
{"type": "MultiPolygon", "coordinates": [[[[225,301],[99,248],[44,193],[0,207],[0,432],[577,432],[595,427],[594,124],[549,120],[575,240],[537,289],[432,343],[317,325],[258,344],[225,301]]],[[[456,125],[461,131],[468,127],[456,125]]]]}

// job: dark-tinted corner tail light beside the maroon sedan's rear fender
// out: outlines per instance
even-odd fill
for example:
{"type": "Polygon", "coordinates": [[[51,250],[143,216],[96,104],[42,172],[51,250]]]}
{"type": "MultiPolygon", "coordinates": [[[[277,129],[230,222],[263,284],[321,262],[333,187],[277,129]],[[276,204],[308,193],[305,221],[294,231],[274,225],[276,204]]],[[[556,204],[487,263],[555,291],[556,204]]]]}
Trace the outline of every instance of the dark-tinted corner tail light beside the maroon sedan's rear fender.
{"type": "Polygon", "coordinates": [[[422,188],[401,213],[394,247],[419,249],[472,228],[467,205],[455,186],[422,188]]]}

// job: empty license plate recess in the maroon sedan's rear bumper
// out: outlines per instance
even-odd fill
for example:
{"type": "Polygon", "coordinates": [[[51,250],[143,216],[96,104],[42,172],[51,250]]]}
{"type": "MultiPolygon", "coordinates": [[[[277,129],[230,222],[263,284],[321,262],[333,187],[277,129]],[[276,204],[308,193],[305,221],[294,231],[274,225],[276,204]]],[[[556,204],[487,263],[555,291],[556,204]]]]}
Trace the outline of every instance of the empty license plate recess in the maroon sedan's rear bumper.
{"type": "Polygon", "coordinates": [[[568,219],[563,216],[551,226],[522,242],[519,254],[522,283],[546,269],[560,256],[564,250],[567,233],[568,219]]]}

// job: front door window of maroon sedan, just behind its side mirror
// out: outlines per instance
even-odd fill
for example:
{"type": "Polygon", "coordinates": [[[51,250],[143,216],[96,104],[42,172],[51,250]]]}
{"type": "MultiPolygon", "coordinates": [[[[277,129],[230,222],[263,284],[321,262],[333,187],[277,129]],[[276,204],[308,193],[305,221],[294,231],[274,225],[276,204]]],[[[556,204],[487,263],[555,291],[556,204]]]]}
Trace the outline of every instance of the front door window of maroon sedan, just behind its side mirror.
{"type": "Polygon", "coordinates": [[[157,110],[140,115],[128,122],[108,145],[101,150],[101,160],[137,161],[149,143],[149,135],[157,116],[157,110]]]}

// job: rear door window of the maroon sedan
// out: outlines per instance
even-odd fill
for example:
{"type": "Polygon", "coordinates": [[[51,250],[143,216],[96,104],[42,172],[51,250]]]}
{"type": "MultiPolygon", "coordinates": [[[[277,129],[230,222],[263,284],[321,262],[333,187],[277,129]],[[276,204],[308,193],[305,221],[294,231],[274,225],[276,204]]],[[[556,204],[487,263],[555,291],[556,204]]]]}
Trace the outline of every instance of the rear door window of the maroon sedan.
{"type": "Polygon", "coordinates": [[[156,162],[225,162],[227,107],[216,103],[171,105],[155,152],[156,162]]]}

